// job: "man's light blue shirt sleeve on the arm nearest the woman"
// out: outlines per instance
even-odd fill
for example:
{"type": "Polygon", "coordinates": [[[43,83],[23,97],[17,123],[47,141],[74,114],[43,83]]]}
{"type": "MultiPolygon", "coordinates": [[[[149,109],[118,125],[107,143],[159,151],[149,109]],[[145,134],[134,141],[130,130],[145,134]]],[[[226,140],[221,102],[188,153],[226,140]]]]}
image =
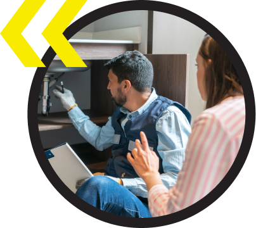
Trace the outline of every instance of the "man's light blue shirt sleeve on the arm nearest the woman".
{"type": "MultiPolygon", "coordinates": [[[[163,162],[163,172],[169,175],[170,189],[177,180],[177,175],[181,171],[188,137],[191,134],[191,127],[188,119],[176,106],[169,106],[157,122],[158,153],[163,162]],[[170,179],[174,179],[171,181],[170,179]]],[[[168,181],[167,181],[168,182],[168,181]]]]}

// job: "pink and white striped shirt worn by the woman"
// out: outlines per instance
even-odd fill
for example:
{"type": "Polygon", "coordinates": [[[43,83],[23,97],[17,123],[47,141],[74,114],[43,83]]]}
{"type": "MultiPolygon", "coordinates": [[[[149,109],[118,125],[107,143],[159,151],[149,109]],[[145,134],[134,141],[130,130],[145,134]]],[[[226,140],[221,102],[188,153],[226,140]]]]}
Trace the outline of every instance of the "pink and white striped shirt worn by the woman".
{"type": "Polygon", "coordinates": [[[234,162],[245,129],[245,99],[224,99],[197,117],[176,185],[151,187],[148,206],[153,217],[182,210],[214,189],[234,162]]]}

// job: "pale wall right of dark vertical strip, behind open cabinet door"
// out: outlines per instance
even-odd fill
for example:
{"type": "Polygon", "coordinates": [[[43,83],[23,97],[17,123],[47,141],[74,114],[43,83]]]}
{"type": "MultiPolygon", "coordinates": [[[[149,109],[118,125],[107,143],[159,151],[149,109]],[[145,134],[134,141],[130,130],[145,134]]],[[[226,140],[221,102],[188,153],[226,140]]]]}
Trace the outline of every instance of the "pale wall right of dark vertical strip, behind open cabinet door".
{"type": "Polygon", "coordinates": [[[195,59],[206,34],[201,28],[182,18],[168,13],[154,11],[153,54],[189,54],[188,110],[195,117],[205,108],[196,82],[195,59]]]}

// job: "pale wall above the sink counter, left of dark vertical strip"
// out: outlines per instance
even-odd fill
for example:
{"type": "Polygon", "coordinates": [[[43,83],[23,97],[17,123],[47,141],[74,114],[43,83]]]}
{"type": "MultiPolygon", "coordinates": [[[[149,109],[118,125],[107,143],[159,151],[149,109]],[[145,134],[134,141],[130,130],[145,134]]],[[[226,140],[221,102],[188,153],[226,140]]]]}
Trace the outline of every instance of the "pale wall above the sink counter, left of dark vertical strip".
{"type": "Polygon", "coordinates": [[[148,45],[148,11],[134,10],[105,16],[94,22],[94,32],[141,26],[139,51],[146,54],[148,45]]]}

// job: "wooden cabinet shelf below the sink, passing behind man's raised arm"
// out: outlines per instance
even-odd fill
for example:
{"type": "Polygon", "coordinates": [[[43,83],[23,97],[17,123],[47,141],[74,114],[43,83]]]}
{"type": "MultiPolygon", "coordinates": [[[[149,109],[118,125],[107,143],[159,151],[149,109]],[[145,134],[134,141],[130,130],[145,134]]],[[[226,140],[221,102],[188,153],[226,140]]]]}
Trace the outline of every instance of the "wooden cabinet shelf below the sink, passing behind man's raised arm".
{"type": "MultiPolygon", "coordinates": [[[[82,110],[82,112],[90,117],[90,120],[94,124],[106,124],[108,122],[109,115],[97,110],[82,110]]],[[[60,111],[55,113],[49,113],[47,117],[43,117],[41,114],[37,115],[38,129],[42,130],[55,130],[63,129],[66,127],[74,127],[67,111],[60,111]]]]}

